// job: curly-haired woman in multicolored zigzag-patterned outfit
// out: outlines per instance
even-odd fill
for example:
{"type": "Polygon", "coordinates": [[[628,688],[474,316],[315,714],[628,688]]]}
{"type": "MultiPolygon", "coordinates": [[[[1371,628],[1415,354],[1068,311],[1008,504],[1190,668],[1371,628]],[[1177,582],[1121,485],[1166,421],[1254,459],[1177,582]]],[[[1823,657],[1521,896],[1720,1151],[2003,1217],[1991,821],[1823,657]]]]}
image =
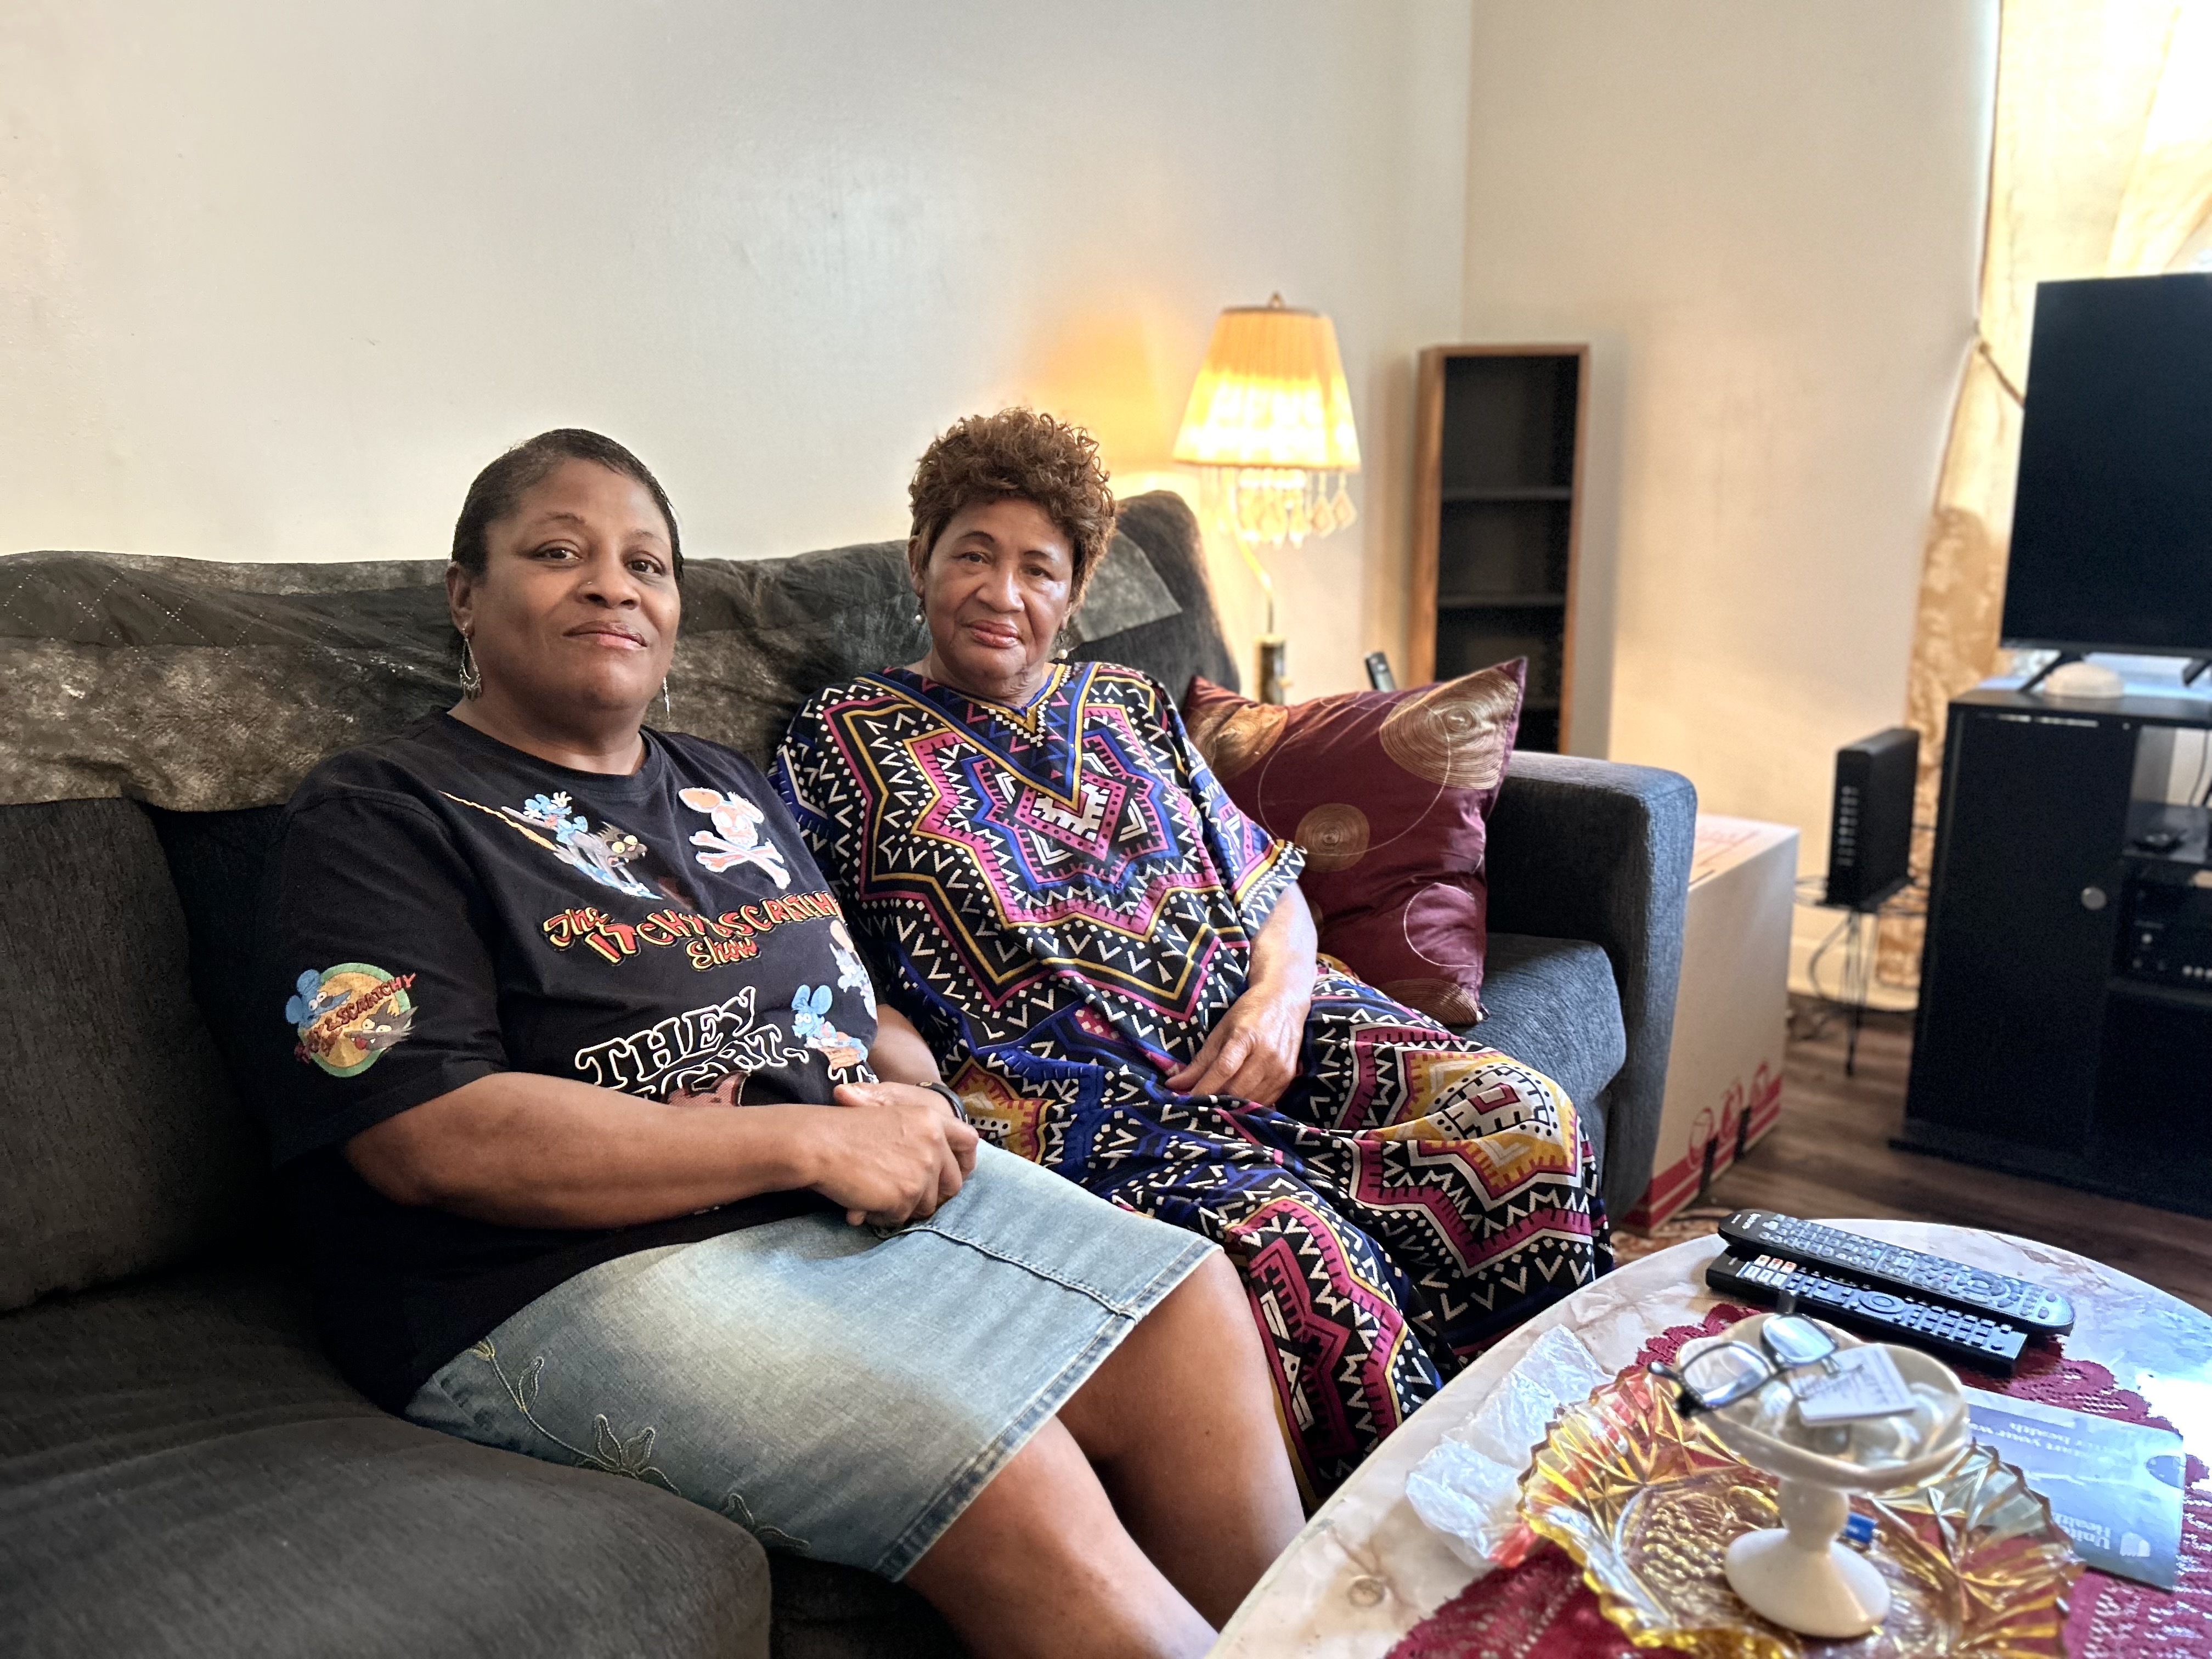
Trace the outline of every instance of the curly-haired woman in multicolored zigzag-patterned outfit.
{"type": "Polygon", "coordinates": [[[929,655],[814,697],[776,785],[978,1128],[1230,1252],[1318,1500],[1608,1265],[1588,1139],[1548,1077],[1316,958],[1305,854],[1157,681],[1053,659],[1113,535],[1088,434],[962,420],[911,502],[929,655]]]}

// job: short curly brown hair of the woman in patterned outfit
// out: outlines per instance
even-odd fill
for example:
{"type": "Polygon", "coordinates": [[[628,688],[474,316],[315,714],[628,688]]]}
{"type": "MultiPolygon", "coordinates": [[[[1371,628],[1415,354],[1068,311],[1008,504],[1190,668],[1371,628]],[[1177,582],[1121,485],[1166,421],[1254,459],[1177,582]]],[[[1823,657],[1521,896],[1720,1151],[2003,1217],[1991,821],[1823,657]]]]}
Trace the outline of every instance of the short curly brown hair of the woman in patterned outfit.
{"type": "Polygon", "coordinates": [[[929,564],[953,513],[975,502],[1026,500],[1068,538],[1079,599],[1113,540],[1115,502],[1099,445],[1088,431],[1035,409],[956,420],[922,451],[907,500],[918,564],[929,564]]]}

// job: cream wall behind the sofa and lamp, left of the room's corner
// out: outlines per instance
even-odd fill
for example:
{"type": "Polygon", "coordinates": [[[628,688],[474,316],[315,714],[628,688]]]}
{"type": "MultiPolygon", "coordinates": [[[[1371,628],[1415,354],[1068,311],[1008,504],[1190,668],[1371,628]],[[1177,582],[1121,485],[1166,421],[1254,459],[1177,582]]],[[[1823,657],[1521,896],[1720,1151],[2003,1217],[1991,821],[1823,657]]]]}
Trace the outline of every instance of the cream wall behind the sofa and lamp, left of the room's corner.
{"type": "MultiPolygon", "coordinates": [[[[1363,522],[1298,690],[1400,641],[1411,352],[1460,316],[1467,4],[13,0],[0,549],[440,553],[593,425],[701,553],[905,529],[1026,398],[1168,465],[1228,303],[1332,312],[1363,522]]],[[[1223,599],[1250,624],[1250,582],[1223,599]]]]}

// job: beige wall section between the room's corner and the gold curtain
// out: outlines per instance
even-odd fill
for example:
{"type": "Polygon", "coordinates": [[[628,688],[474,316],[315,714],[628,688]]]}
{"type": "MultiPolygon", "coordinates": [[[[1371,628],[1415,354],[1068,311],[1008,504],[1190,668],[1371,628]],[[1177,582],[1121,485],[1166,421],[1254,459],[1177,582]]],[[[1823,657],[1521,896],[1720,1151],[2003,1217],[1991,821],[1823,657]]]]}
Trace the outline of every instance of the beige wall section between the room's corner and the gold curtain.
{"type": "Polygon", "coordinates": [[[1467,338],[1593,343],[1577,748],[1796,825],[1807,869],[1834,750],[1905,712],[1995,27],[1995,0],[1475,2],[1467,338]]]}

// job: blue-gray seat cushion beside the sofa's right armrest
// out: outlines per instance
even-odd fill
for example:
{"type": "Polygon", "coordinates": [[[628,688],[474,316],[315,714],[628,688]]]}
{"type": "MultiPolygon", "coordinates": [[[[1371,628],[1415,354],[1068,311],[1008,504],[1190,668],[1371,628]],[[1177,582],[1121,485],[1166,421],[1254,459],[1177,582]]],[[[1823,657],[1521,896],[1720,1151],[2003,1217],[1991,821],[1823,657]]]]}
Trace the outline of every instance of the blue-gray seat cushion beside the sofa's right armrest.
{"type": "Polygon", "coordinates": [[[1551,1077],[1606,1144],[1606,1084],[1628,1060],[1621,993],[1606,953],[1579,938],[1491,933],[1482,980],[1489,1020],[1467,1035],[1551,1077]]]}

